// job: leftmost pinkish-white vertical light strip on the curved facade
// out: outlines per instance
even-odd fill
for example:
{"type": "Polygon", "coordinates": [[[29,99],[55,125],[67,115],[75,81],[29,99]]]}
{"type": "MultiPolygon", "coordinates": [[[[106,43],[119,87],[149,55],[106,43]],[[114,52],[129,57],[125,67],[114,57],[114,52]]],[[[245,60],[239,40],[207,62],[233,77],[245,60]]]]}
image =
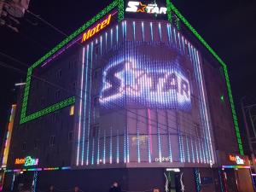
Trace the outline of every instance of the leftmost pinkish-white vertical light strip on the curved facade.
{"type": "Polygon", "coordinates": [[[82,121],[82,106],[83,106],[83,87],[84,87],[84,48],[82,54],[82,77],[81,77],[81,87],[80,87],[80,104],[79,104],[79,134],[78,134],[78,148],[77,148],[77,166],[79,166],[79,151],[80,151],[80,140],[81,140],[81,121],[82,121]]]}

